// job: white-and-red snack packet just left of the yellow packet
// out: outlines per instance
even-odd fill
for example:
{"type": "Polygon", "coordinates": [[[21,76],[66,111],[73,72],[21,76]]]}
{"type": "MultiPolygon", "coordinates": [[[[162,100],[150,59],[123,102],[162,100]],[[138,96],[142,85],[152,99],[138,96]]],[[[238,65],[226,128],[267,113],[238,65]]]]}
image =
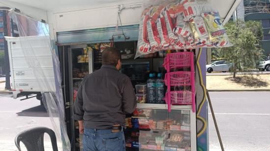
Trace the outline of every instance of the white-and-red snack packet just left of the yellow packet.
{"type": "Polygon", "coordinates": [[[194,43],[198,47],[204,47],[210,45],[209,34],[204,23],[204,19],[201,16],[196,16],[190,20],[189,26],[192,30],[194,37],[194,43]]]}

